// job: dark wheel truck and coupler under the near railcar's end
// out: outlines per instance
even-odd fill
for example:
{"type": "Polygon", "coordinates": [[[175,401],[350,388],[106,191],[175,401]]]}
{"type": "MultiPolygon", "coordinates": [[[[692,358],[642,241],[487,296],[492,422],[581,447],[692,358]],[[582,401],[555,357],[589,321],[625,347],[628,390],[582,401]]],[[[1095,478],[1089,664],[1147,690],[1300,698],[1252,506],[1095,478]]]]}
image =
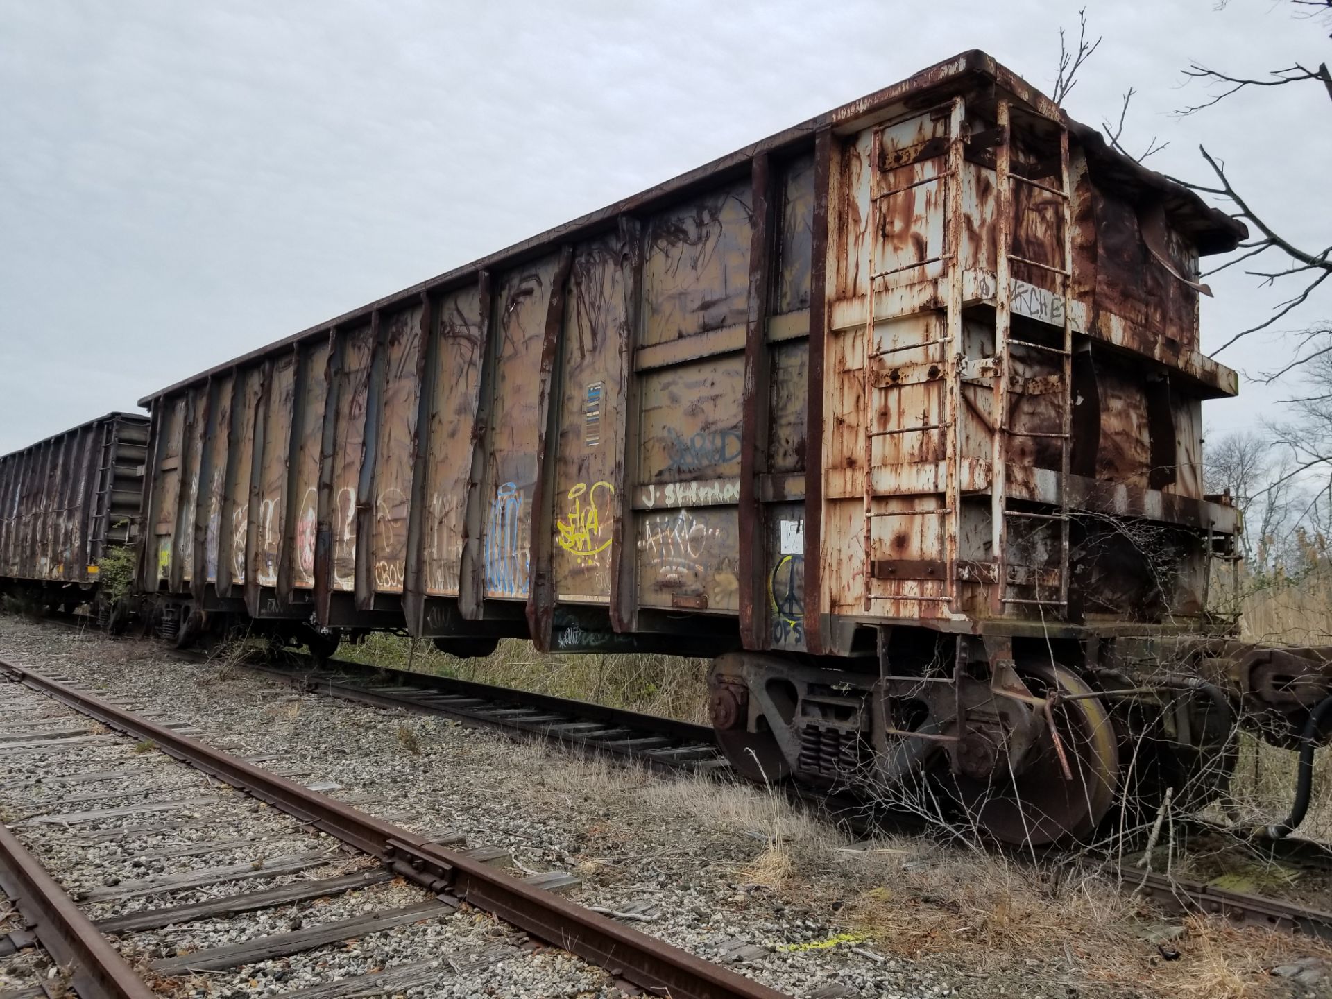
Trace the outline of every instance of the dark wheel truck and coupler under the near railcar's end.
{"type": "Polygon", "coordinates": [[[1044,846],[1150,825],[1167,798],[1183,810],[1211,803],[1229,783],[1241,727],[1293,746],[1324,741],[1332,721],[1319,711],[1332,649],[884,629],[878,658],[863,662],[719,657],[710,713],[737,771],[1044,846]]]}

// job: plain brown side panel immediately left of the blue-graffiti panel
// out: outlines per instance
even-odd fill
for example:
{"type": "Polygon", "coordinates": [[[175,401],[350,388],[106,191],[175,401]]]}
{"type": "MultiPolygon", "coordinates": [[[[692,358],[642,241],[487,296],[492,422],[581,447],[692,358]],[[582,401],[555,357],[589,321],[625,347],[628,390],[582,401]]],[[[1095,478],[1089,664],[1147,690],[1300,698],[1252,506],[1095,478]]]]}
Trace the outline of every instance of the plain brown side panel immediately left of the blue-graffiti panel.
{"type": "Polygon", "coordinates": [[[460,289],[444,296],[436,308],[440,321],[434,333],[438,340],[421,543],[426,593],[456,597],[481,386],[480,290],[476,285],[460,289]]]}

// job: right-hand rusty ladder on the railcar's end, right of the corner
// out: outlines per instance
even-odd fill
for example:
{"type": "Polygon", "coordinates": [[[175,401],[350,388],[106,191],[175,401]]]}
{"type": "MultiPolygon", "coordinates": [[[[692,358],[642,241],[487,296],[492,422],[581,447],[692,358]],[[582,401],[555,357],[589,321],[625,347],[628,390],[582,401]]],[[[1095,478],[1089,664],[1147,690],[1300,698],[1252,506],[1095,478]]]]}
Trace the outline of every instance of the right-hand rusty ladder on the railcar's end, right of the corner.
{"type": "Polygon", "coordinates": [[[1034,177],[1023,176],[1012,169],[1012,108],[1008,101],[1000,100],[996,105],[996,124],[999,141],[995,149],[995,176],[998,188],[998,204],[995,208],[995,368],[994,380],[994,453],[991,473],[991,518],[994,525],[992,546],[996,567],[996,607],[1000,614],[1006,605],[1028,605],[1039,607],[1056,607],[1056,613],[1063,615],[1068,606],[1068,575],[1070,575],[1070,496],[1068,476],[1072,449],[1072,356],[1074,356],[1074,329],[1072,329],[1072,181],[1068,168],[1068,129],[1062,121],[1039,116],[1043,123],[1054,125],[1059,132],[1059,177],[1060,188],[1042,184],[1034,177]],[[1063,206],[1063,266],[1056,268],[1028,260],[1012,253],[1012,192],[1015,184],[1027,184],[1039,190],[1044,190],[1059,198],[1063,206]],[[1026,266],[1036,268],[1055,274],[1059,280],[1059,294],[1063,302],[1063,345],[1054,348],[1047,344],[1036,344],[1030,340],[1014,340],[1012,337],[1012,278],[1011,262],[1016,261],[1026,266]],[[1008,389],[1011,380],[1012,346],[1043,350],[1056,354],[1060,360],[1060,428],[1058,432],[1016,430],[1008,425],[1008,389]],[[1008,457],[1008,441],[1014,437],[1028,438],[1055,438],[1059,441],[1059,480],[1058,480],[1058,513],[1038,513],[1031,510],[1010,510],[1007,503],[1007,474],[1006,461],[1008,457]],[[1028,521],[1046,521],[1059,525],[1059,586],[1058,595],[1042,597],[1043,581],[1038,575],[1034,586],[1034,597],[1008,597],[1008,521],[1012,518],[1028,521]]]}

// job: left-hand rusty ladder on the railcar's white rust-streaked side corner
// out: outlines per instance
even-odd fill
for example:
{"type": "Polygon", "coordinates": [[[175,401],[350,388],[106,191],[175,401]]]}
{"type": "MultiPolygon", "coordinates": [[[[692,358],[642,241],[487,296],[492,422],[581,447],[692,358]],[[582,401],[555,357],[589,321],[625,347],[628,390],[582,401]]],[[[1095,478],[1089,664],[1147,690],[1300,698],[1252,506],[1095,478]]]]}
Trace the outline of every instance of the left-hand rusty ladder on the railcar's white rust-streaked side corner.
{"type": "MultiPolygon", "coordinates": [[[[882,156],[883,156],[883,127],[874,129],[872,140],[870,144],[870,210],[867,218],[867,240],[868,240],[868,280],[866,282],[866,306],[864,306],[864,345],[863,345],[863,389],[862,389],[862,405],[864,408],[864,609],[868,611],[872,607],[875,599],[895,599],[895,601],[927,601],[944,603],[952,606],[954,597],[956,594],[956,543],[959,535],[959,522],[960,522],[960,457],[958,453],[958,417],[960,413],[960,378],[958,377],[958,365],[960,364],[959,357],[962,353],[962,266],[960,266],[960,242],[962,242],[962,164],[963,164],[963,123],[966,119],[966,104],[962,97],[954,97],[947,105],[948,108],[948,151],[947,151],[947,168],[936,172],[931,177],[923,180],[915,180],[904,186],[884,190],[880,188],[882,184],[882,156]],[[879,229],[882,225],[880,204],[887,198],[902,194],[912,188],[922,186],[924,184],[940,182],[944,185],[946,198],[944,198],[944,242],[942,248],[942,254],[939,257],[930,257],[926,260],[914,261],[911,264],[904,264],[900,266],[890,268],[887,270],[878,270],[876,250],[879,242],[879,229]],[[943,261],[947,266],[946,277],[948,282],[947,301],[943,309],[932,309],[932,312],[944,313],[944,333],[942,337],[935,340],[923,340],[916,344],[899,344],[896,346],[884,348],[882,350],[875,349],[875,325],[878,322],[878,316],[875,312],[875,294],[879,289],[879,282],[884,278],[900,273],[903,270],[910,270],[914,268],[924,268],[930,264],[936,264],[943,261]],[[943,357],[936,361],[920,361],[919,364],[936,364],[939,372],[944,378],[944,392],[942,393],[939,401],[939,409],[943,410],[940,417],[936,417],[938,422],[922,422],[911,424],[906,426],[886,428],[883,430],[876,430],[875,425],[878,422],[878,416],[880,412],[887,412],[888,408],[878,405],[878,392],[887,392],[890,389],[900,389],[903,385],[887,384],[878,385],[875,378],[875,360],[880,357],[887,357],[895,353],[902,353],[906,350],[920,350],[926,348],[942,348],[943,357]],[[951,348],[951,354],[948,353],[951,348]],[[911,493],[875,493],[874,492],[874,441],[880,437],[892,437],[898,434],[908,433],[927,433],[931,430],[943,430],[946,436],[944,448],[944,485],[942,490],[934,490],[931,493],[915,493],[914,496],[935,496],[942,500],[932,509],[911,509],[911,510],[875,510],[874,501],[878,498],[888,498],[892,496],[912,496],[911,493]],[[946,587],[942,594],[916,594],[916,595],[900,595],[900,594],[883,594],[875,595],[874,593],[874,522],[878,518],[888,517],[944,517],[951,518],[951,523],[946,522],[944,526],[944,582],[946,587]]],[[[886,317],[887,318],[887,317],[886,317]]],[[[918,581],[919,582],[919,581],[918,581]]]]}

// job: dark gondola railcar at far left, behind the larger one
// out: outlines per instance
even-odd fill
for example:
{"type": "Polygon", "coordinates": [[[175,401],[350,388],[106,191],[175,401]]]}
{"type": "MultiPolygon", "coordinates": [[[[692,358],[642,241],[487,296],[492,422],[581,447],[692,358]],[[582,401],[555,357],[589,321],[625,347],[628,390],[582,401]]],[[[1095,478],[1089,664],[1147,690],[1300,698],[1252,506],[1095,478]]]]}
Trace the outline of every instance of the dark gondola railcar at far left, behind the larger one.
{"type": "Polygon", "coordinates": [[[0,589],[93,599],[108,547],[139,541],[148,417],[108,413],[0,457],[0,589]]]}

